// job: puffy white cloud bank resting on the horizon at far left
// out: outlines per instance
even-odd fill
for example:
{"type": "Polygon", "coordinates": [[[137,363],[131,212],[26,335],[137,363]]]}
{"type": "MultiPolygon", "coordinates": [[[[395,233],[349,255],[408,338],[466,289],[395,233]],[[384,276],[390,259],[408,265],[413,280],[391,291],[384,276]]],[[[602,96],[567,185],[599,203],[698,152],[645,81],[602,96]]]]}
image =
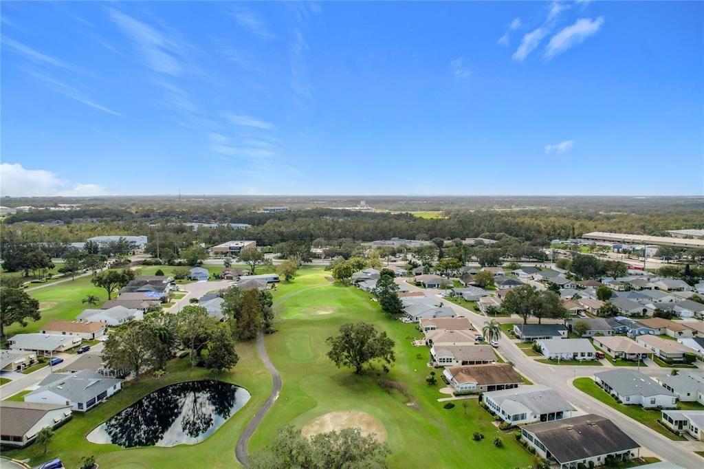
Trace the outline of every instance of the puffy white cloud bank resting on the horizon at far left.
{"type": "Polygon", "coordinates": [[[25,169],[20,163],[0,164],[0,185],[2,196],[13,197],[83,197],[107,194],[99,185],[68,182],[61,180],[51,171],[25,169]]]}

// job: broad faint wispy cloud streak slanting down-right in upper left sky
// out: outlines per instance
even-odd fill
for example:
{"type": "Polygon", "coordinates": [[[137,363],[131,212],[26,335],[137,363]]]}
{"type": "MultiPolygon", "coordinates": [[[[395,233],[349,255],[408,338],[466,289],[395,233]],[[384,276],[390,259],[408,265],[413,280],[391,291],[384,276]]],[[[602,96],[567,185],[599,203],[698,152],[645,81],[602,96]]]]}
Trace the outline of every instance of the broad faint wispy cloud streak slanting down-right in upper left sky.
{"type": "Polygon", "coordinates": [[[115,8],[110,8],[108,11],[113,23],[132,40],[142,54],[144,63],[151,70],[173,76],[183,73],[183,66],[175,57],[179,49],[176,42],[146,23],[125,15],[115,8]]]}

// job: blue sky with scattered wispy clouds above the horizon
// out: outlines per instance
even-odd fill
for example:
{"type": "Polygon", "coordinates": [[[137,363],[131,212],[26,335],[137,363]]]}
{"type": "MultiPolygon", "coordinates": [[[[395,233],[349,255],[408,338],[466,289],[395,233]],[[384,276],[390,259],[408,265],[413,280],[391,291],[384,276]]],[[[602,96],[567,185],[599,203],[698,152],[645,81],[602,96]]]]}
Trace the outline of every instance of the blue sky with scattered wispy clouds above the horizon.
{"type": "Polygon", "coordinates": [[[2,194],[704,194],[702,2],[3,2],[2,194]]]}

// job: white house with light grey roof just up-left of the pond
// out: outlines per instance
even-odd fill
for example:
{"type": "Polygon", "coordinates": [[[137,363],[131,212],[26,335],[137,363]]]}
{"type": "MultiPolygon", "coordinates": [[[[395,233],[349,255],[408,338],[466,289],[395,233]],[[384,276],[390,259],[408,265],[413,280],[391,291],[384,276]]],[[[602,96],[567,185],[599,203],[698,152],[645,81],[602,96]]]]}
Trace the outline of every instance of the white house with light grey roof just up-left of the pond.
{"type": "Polygon", "coordinates": [[[91,370],[51,373],[39,387],[25,395],[25,402],[70,404],[71,410],[88,411],[122,389],[122,380],[91,370]]]}

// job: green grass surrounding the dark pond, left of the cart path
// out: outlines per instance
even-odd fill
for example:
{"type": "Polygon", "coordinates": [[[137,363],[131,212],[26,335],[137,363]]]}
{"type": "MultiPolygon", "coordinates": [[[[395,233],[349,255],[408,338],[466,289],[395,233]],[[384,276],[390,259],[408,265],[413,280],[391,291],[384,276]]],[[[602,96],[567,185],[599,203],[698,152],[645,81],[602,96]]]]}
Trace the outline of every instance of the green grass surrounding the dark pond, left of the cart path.
{"type": "MultiPolygon", "coordinates": [[[[87,413],[73,413],[73,418],[56,430],[46,455],[38,446],[4,451],[9,458],[31,458],[32,464],[60,457],[67,468],[78,467],[82,456],[94,455],[101,468],[233,468],[240,467],[234,458],[237,437],[271,390],[271,378],[256,356],[253,344],[238,344],[239,363],[229,373],[214,375],[203,368],[190,368],[185,359],[171,361],[168,373],[158,379],[142,377],[139,382],[125,384],[122,391],[87,413]],[[134,401],[159,387],[175,382],[214,378],[245,387],[252,394],[250,401],[225,425],[205,441],[172,448],[122,449],[110,444],[92,444],[85,438],[96,426],[134,401]]],[[[21,399],[20,399],[21,400],[21,399]]]]}

